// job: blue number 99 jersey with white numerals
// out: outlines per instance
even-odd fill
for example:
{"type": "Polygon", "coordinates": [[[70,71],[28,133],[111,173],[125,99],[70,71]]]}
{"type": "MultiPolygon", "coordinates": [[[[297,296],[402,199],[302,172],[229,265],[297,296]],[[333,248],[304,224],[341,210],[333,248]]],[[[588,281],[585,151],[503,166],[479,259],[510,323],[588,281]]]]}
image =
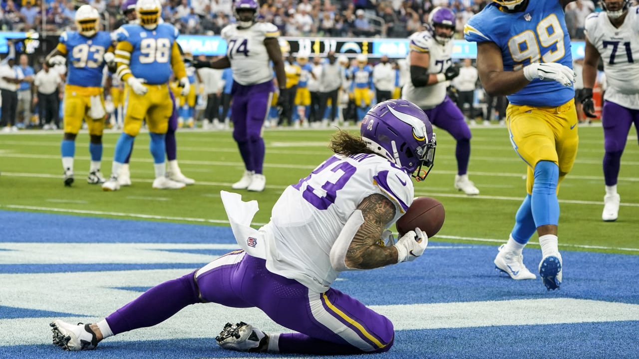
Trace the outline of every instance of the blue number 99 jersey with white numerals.
{"type": "MultiPolygon", "coordinates": [[[[559,0],[531,0],[526,10],[500,11],[491,3],[468,20],[468,42],[494,42],[502,50],[505,71],[518,71],[530,63],[560,63],[573,68],[573,56],[564,10],[559,0]]],[[[556,107],[574,98],[574,88],[557,81],[534,79],[507,96],[514,105],[556,107]]]]}

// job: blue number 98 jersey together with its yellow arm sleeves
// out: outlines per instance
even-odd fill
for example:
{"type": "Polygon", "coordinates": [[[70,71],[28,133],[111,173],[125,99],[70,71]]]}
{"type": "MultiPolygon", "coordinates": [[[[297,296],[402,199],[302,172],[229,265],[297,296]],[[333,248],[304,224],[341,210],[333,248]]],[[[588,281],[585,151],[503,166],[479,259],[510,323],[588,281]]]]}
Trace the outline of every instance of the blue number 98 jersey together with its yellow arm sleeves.
{"type": "Polygon", "coordinates": [[[116,62],[118,77],[126,80],[127,73],[151,85],[166,84],[173,71],[176,78],[185,76],[184,63],[176,44],[178,30],[171,24],[158,24],[153,30],[138,24],[122,26],[114,34],[118,41],[116,62]]]}

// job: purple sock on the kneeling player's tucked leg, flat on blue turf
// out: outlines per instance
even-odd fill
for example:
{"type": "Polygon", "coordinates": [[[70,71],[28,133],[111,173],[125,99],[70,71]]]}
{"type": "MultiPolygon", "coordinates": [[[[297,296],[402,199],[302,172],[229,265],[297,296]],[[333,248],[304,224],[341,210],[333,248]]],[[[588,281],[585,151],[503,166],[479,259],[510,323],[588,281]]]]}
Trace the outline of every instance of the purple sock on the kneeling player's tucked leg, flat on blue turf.
{"type": "MultiPolygon", "coordinates": [[[[394,339],[384,348],[376,351],[388,351],[393,346],[394,339]]],[[[311,338],[302,333],[282,333],[277,342],[280,353],[298,353],[313,355],[352,355],[367,353],[348,344],[338,344],[327,340],[311,338]]]]}

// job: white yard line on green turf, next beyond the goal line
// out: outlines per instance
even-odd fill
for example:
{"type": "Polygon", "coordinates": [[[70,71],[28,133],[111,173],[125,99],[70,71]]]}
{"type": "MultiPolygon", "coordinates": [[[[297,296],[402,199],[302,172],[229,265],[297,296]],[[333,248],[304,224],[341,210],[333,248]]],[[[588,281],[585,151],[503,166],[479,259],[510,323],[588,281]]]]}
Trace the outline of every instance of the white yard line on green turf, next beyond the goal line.
{"type": "MultiPolygon", "coordinates": [[[[456,171],[451,171],[452,173],[457,173],[456,171]]],[[[24,173],[24,172],[3,172],[2,174],[3,176],[13,176],[13,177],[33,177],[33,178],[61,178],[61,176],[59,174],[47,174],[47,173],[24,173]]],[[[492,176],[492,174],[491,174],[492,176]]],[[[636,178],[637,181],[639,181],[639,178],[636,178]]],[[[133,179],[134,182],[146,182],[146,183],[151,183],[153,182],[153,179],[133,179]]],[[[203,185],[203,186],[214,186],[214,187],[231,187],[232,183],[226,183],[226,182],[206,182],[206,181],[198,181],[197,182],[198,185],[203,185]]],[[[274,186],[274,185],[266,185],[266,188],[272,188],[272,189],[278,189],[278,190],[284,190],[286,187],[288,186],[274,186]]],[[[434,188],[434,189],[439,189],[442,190],[443,188],[434,188]]],[[[454,192],[459,192],[457,190],[454,190],[454,188],[450,188],[450,191],[454,191],[454,192]]],[[[494,199],[494,200],[500,200],[500,201],[518,201],[521,202],[523,200],[523,197],[505,197],[505,196],[500,196],[500,195],[473,195],[473,196],[468,196],[465,194],[457,194],[457,193],[443,193],[443,192],[422,192],[422,191],[415,191],[415,195],[427,195],[427,196],[431,196],[431,197],[452,197],[452,198],[467,198],[469,201],[473,201],[474,199],[494,199]]],[[[599,201],[579,201],[576,199],[560,199],[559,203],[571,203],[571,204],[592,204],[595,206],[601,206],[603,204],[602,202],[599,201]]],[[[628,203],[628,202],[622,202],[620,203],[620,206],[626,206],[626,207],[639,207],[639,203],[628,203]]]]}

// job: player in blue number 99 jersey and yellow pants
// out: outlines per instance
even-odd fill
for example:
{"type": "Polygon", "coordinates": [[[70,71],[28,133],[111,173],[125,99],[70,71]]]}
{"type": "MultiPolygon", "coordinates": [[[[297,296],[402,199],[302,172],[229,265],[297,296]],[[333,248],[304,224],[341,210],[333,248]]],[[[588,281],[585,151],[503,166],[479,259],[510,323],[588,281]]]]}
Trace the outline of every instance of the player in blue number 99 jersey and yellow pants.
{"type": "Polygon", "coordinates": [[[506,95],[512,147],[528,166],[527,196],[495,266],[512,279],[535,279],[521,250],[539,234],[539,275],[548,290],[562,282],[557,248],[558,185],[577,154],[575,73],[564,6],[573,0],[493,0],[464,28],[477,43],[477,70],[486,93],[506,95]]]}

